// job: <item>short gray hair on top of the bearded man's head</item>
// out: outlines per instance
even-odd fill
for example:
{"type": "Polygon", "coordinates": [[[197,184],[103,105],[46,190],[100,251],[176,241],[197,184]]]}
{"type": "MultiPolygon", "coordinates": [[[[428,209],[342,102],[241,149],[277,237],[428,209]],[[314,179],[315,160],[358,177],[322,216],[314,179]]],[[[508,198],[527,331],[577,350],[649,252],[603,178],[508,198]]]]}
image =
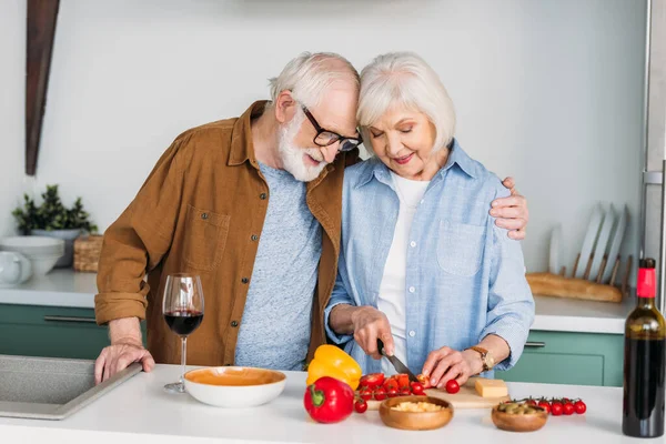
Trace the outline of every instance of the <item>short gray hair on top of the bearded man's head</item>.
{"type": "Polygon", "coordinates": [[[316,107],[325,91],[336,81],[345,81],[359,89],[359,72],[342,56],[332,52],[303,52],[291,60],[280,75],[270,79],[271,103],[284,90],[306,107],[316,107]]]}

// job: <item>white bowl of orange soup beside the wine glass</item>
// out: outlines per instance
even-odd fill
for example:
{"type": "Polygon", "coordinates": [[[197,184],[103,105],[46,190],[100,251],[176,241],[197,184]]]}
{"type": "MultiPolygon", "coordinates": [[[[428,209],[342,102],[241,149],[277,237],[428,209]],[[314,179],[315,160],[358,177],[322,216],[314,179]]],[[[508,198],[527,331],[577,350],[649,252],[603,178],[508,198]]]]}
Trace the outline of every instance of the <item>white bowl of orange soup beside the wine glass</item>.
{"type": "Polygon", "coordinates": [[[284,373],[254,367],[205,367],[185,373],[185,390],[192,397],[218,407],[254,407],[282,393],[284,373]]]}

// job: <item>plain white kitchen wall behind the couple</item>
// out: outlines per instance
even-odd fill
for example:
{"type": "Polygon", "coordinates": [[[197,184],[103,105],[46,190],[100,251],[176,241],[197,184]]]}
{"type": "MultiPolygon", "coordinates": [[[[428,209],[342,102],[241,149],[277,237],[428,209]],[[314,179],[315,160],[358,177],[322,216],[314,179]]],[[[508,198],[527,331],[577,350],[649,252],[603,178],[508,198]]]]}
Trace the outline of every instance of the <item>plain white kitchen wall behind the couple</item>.
{"type": "MultiPolygon", "coordinates": [[[[24,0],[0,6],[2,36],[24,32],[23,11],[24,0]]],[[[644,14],[634,0],[62,0],[38,184],[60,183],[65,202],[82,195],[104,229],[173,138],[265,98],[299,52],[362,68],[415,50],[453,97],[463,148],[529,199],[531,271],[546,266],[557,222],[573,263],[601,200],[629,205],[634,252],[644,14]]],[[[1,71],[13,98],[23,60],[1,48],[16,61],[1,71]]],[[[2,103],[3,152],[22,150],[21,107],[2,103]]]]}

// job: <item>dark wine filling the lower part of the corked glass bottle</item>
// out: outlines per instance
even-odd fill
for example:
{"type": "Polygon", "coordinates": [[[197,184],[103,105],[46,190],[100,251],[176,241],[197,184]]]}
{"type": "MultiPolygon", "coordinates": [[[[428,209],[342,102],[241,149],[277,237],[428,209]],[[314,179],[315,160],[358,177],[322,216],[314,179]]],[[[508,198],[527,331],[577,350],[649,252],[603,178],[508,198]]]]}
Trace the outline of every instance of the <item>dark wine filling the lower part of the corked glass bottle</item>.
{"type": "Polygon", "coordinates": [[[664,434],[664,340],[625,340],[625,397],[623,433],[629,436],[664,434]]]}

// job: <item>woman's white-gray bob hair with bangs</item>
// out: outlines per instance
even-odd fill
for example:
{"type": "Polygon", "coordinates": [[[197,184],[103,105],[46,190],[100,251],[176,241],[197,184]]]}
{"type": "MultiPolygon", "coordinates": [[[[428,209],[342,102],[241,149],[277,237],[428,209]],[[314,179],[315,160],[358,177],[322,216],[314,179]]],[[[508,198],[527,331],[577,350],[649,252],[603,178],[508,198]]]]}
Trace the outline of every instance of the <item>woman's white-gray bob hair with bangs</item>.
{"type": "MultiPolygon", "coordinates": [[[[437,73],[413,52],[377,56],[361,71],[356,120],[363,140],[370,141],[367,127],[374,124],[394,105],[406,107],[427,115],[435,127],[435,151],[448,145],[453,140],[453,102],[437,73]]],[[[364,145],[372,153],[372,145],[364,145]]]]}

